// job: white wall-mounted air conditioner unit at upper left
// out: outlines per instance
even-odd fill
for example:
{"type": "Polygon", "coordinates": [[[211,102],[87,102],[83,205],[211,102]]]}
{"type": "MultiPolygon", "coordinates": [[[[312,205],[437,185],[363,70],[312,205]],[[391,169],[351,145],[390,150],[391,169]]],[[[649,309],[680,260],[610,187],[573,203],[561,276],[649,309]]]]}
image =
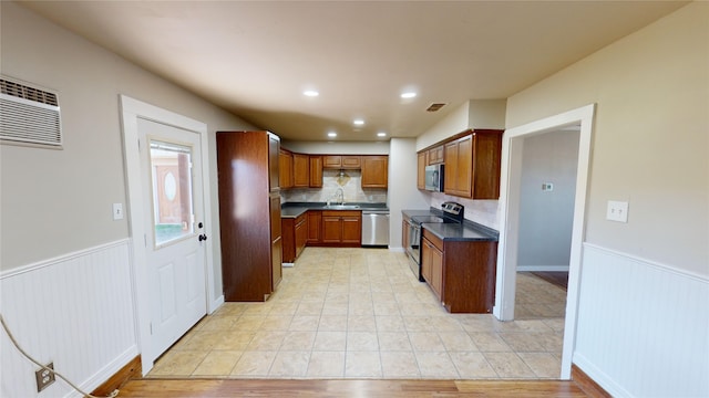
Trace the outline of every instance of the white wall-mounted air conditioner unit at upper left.
{"type": "Polygon", "coordinates": [[[0,77],[0,140],[61,148],[62,128],[55,93],[0,77]]]}

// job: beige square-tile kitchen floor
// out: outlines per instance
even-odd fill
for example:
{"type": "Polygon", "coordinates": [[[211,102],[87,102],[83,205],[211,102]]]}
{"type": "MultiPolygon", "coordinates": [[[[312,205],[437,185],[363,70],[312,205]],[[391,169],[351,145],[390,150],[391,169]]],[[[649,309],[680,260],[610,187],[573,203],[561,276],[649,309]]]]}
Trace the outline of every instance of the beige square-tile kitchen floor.
{"type": "Polygon", "coordinates": [[[403,253],[307,248],[266,303],[226,303],[148,377],[557,378],[566,293],[518,276],[518,320],[449,314],[403,253]]]}

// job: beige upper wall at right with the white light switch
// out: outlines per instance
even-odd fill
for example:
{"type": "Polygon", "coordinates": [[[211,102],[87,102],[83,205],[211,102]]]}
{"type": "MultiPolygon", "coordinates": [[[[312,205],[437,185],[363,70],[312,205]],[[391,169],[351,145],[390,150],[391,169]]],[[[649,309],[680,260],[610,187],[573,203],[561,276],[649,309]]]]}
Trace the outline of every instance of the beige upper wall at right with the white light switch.
{"type": "Polygon", "coordinates": [[[597,104],[586,241],[709,275],[709,3],[507,100],[507,128],[597,104]],[[628,223],[605,220],[629,201],[628,223]]]}

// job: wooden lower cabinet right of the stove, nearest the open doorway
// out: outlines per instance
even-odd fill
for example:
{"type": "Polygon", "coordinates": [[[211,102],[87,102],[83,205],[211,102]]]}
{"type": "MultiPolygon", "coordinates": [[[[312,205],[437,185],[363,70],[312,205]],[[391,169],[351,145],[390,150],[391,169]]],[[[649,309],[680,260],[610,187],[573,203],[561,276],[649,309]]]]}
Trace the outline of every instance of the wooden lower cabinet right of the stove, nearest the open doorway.
{"type": "Polygon", "coordinates": [[[423,229],[421,272],[450,313],[491,313],[497,242],[444,241],[423,229]]]}

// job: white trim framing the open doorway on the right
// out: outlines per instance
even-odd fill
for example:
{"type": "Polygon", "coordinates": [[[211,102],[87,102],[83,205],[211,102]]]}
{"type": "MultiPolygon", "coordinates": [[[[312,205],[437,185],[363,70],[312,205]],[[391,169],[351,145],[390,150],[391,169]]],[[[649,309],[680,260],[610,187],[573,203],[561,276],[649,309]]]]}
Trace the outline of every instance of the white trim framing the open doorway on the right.
{"type": "Polygon", "coordinates": [[[559,115],[513,127],[505,130],[502,140],[500,242],[497,247],[497,282],[493,314],[501,321],[511,321],[514,320],[517,233],[520,230],[520,182],[524,137],[580,123],[566,321],[564,326],[564,348],[562,354],[562,379],[571,378],[572,355],[576,337],[582,244],[586,231],[586,193],[595,109],[596,104],[590,104],[559,115]]]}

